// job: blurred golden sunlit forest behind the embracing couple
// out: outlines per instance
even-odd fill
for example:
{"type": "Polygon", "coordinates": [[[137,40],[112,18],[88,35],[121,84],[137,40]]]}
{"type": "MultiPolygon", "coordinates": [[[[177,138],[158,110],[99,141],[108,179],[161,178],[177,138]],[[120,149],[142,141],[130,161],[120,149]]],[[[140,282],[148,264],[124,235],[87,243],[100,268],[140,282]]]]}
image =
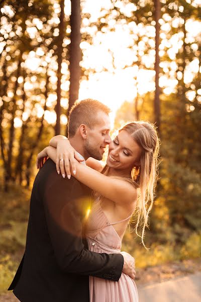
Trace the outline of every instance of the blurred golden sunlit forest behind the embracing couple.
{"type": "Polygon", "coordinates": [[[201,256],[200,0],[0,0],[0,292],[24,252],[36,156],[67,133],[76,99],[113,109],[114,129],[149,120],[161,139],[137,267],[201,256]]]}

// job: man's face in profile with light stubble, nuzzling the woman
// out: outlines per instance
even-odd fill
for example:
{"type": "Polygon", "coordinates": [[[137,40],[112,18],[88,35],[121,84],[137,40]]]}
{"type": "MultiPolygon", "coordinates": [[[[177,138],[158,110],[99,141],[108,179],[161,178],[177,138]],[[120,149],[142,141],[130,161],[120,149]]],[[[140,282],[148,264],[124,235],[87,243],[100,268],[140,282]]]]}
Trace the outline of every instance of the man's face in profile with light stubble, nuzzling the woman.
{"type": "Polygon", "coordinates": [[[98,161],[103,159],[106,146],[111,143],[110,137],[110,117],[103,111],[96,115],[96,125],[93,129],[87,128],[87,138],[85,140],[85,150],[89,157],[98,161]]]}

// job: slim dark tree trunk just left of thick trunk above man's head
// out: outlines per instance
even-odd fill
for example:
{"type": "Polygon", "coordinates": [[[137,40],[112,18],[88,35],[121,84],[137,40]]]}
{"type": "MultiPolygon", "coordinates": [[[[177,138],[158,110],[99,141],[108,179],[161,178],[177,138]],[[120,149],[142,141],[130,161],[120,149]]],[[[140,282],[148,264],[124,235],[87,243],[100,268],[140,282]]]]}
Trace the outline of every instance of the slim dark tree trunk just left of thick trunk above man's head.
{"type": "Polygon", "coordinates": [[[59,23],[59,40],[57,45],[57,104],[55,106],[56,111],[56,125],[55,125],[55,135],[60,134],[60,115],[61,115],[61,63],[62,63],[62,52],[63,52],[63,38],[64,38],[64,0],[60,1],[60,23],[59,23]]]}

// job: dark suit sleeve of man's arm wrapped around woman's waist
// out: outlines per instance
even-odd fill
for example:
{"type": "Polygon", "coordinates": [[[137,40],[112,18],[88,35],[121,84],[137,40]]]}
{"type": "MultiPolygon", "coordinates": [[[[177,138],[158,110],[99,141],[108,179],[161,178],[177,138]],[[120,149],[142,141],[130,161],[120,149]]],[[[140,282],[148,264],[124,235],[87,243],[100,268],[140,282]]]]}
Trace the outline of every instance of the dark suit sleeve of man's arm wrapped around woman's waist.
{"type": "Polygon", "coordinates": [[[98,254],[84,249],[80,198],[82,188],[74,178],[69,181],[55,177],[45,190],[44,208],[57,262],[65,272],[118,281],[124,264],[121,254],[98,254]]]}

